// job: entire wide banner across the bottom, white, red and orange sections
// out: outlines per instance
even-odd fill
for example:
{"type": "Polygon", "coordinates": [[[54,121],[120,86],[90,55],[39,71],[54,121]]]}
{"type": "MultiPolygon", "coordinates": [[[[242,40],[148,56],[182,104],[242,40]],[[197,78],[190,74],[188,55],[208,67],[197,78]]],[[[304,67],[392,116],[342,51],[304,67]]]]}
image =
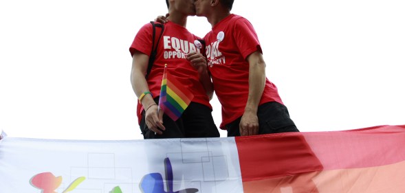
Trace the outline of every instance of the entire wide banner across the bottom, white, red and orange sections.
{"type": "Polygon", "coordinates": [[[194,139],[3,137],[0,193],[404,193],[405,125],[194,139]]]}

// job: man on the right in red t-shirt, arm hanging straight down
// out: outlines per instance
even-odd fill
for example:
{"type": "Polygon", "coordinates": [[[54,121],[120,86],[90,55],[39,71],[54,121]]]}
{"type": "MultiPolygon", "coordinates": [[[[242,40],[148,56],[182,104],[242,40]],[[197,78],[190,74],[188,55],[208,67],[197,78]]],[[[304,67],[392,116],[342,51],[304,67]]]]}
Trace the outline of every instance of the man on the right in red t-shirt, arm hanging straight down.
{"type": "Polygon", "coordinates": [[[197,0],[197,16],[212,25],[206,57],[215,93],[222,105],[221,129],[228,137],[298,132],[277,87],[265,75],[259,38],[252,24],[231,14],[233,0],[197,0]]]}

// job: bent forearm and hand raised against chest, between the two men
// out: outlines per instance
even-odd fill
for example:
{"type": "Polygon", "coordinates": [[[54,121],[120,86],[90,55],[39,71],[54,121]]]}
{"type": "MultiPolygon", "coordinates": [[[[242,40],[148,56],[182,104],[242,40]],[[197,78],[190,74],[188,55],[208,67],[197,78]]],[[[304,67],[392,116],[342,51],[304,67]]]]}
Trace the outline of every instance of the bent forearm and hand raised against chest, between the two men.
{"type": "Polygon", "coordinates": [[[187,54],[187,60],[190,61],[190,64],[198,71],[199,82],[203,85],[206,90],[206,94],[210,100],[212,95],[214,95],[214,86],[211,82],[210,73],[208,73],[207,59],[202,54],[197,52],[187,54]]]}

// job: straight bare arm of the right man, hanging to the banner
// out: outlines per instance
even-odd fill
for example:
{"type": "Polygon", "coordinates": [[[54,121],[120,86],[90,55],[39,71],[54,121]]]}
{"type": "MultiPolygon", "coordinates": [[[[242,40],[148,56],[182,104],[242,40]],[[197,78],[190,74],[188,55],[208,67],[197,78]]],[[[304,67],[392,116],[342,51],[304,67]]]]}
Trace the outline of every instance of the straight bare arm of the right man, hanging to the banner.
{"type": "Polygon", "coordinates": [[[265,87],[265,62],[263,55],[253,52],[246,58],[249,62],[249,95],[245,112],[239,124],[241,135],[257,135],[259,133],[259,119],[257,109],[265,87]]]}

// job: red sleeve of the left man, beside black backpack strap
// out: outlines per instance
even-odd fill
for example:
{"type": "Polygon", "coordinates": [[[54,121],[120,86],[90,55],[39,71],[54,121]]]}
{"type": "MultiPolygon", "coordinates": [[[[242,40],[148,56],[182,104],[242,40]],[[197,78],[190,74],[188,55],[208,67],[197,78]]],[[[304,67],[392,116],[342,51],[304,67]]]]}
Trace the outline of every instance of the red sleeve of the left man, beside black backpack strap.
{"type": "Polygon", "coordinates": [[[135,51],[142,52],[146,55],[151,55],[152,51],[152,25],[147,23],[140,28],[138,33],[133,39],[131,47],[129,47],[129,52],[131,57],[135,54],[135,51]]]}

